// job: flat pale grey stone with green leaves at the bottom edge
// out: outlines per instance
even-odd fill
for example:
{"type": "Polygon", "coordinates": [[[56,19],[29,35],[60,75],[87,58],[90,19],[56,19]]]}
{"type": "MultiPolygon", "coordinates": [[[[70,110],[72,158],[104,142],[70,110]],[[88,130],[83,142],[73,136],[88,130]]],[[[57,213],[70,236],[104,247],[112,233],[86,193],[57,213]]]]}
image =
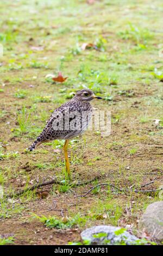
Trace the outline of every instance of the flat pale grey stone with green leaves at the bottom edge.
{"type": "Polygon", "coordinates": [[[128,231],[123,231],[122,234],[116,235],[115,231],[120,230],[120,227],[112,227],[108,225],[98,225],[92,228],[87,228],[81,233],[83,240],[89,240],[91,245],[117,245],[123,241],[126,245],[132,245],[134,241],[139,240],[134,235],[131,235],[128,231]],[[99,233],[105,233],[102,237],[99,233]],[[99,234],[99,235],[98,235],[99,234]],[[98,237],[94,237],[94,236],[98,237]]]}

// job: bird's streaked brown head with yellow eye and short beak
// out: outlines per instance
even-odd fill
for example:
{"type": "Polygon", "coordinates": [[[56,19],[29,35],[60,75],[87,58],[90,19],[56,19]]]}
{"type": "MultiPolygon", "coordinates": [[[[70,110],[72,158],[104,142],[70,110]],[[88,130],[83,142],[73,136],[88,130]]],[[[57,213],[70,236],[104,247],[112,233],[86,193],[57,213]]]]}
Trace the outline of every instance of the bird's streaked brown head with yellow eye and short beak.
{"type": "Polygon", "coordinates": [[[90,89],[83,89],[79,90],[79,92],[74,95],[73,99],[80,101],[91,101],[93,99],[102,99],[102,97],[96,96],[90,89]]]}

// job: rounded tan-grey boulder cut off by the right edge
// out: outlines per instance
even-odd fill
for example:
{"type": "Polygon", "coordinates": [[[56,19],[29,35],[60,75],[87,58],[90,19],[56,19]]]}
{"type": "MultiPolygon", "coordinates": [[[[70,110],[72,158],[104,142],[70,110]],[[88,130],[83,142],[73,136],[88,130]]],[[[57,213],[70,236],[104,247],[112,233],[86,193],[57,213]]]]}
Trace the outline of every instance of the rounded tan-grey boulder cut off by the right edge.
{"type": "Polygon", "coordinates": [[[155,241],[163,241],[163,201],[148,205],[139,221],[139,228],[155,241]]]}

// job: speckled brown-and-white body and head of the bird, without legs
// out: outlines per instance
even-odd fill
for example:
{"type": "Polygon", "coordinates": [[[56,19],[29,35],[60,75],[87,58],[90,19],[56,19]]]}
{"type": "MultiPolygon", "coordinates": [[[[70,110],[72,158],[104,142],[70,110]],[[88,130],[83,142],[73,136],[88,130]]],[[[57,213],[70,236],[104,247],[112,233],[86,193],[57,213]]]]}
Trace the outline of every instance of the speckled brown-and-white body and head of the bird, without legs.
{"type": "MultiPolygon", "coordinates": [[[[95,97],[95,94],[89,89],[83,89],[77,92],[72,100],[55,109],[40,136],[28,148],[34,150],[41,143],[53,141],[54,139],[71,139],[84,132],[89,124],[92,115],[92,107],[89,101],[95,97]],[[89,94],[89,96],[85,96],[89,94]],[[76,114],[77,112],[77,114],[76,114]],[[83,119],[82,113],[86,113],[86,118],[83,119]],[[67,121],[67,114],[69,114],[67,121]],[[78,129],[71,129],[71,122],[74,119],[74,126],[78,129]],[[84,121],[83,121],[84,120],[84,121]],[[67,122],[67,123],[66,123],[67,122]],[[65,126],[68,124],[68,129],[65,126]]],[[[98,97],[100,98],[100,97],[98,97]]]]}

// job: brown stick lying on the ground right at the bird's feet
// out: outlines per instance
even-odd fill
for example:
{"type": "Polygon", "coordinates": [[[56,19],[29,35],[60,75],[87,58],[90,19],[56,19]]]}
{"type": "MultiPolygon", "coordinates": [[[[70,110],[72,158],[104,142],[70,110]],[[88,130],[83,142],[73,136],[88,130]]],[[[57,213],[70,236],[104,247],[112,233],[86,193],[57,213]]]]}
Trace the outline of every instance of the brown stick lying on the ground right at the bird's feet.
{"type": "MultiPolygon", "coordinates": [[[[87,181],[84,181],[84,182],[79,182],[77,184],[73,184],[73,182],[70,184],[70,186],[82,186],[82,185],[86,185],[86,184],[89,184],[91,183],[92,181],[95,181],[96,179],[98,179],[100,176],[96,176],[95,178],[91,179],[91,180],[87,180],[87,181]]],[[[9,195],[7,195],[7,197],[17,197],[17,196],[21,196],[21,194],[27,192],[27,191],[33,191],[35,190],[36,188],[39,188],[39,187],[43,187],[43,186],[47,186],[47,185],[51,185],[51,184],[58,184],[58,185],[64,185],[63,182],[60,182],[58,181],[57,179],[53,179],[53,180],[49,180],[49,181],[46,181],[46,182],[42,182],[42,183],[39,183],[39,184],[36,184],[32,187],[27,187],[27,188],[24,188],[24,190],[20,190],[16,193],[11,193],[9,195]]]]}

